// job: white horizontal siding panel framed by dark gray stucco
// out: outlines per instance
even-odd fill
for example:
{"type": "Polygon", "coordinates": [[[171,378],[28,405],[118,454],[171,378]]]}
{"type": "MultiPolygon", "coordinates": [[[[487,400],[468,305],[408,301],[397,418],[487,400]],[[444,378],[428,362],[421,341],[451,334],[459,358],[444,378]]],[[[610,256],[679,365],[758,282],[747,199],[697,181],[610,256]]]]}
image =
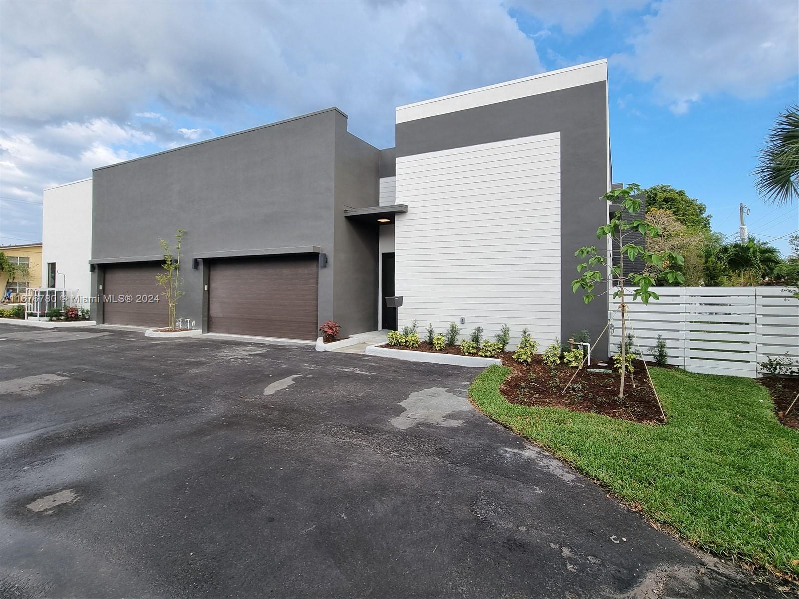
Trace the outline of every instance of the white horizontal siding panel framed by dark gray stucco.
{"type": "Polygon", "coordinates": [[[560,335],[560,133],[396,159],[399,327],[560,335]]]}

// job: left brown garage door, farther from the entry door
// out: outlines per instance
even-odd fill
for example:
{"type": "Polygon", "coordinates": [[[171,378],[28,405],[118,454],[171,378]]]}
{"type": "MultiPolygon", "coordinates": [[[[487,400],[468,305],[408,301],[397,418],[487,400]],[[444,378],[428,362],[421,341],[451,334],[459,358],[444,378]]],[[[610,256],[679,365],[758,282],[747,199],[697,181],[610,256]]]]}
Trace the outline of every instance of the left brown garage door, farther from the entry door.
{"type": "Polygon", "coordinates": [[[169,310],[155,276],[161,264],[109,264],[103,283],[103,322],[166,327],[169,310]],[[153,301],[153,300],[158,301],[153,301]]]}

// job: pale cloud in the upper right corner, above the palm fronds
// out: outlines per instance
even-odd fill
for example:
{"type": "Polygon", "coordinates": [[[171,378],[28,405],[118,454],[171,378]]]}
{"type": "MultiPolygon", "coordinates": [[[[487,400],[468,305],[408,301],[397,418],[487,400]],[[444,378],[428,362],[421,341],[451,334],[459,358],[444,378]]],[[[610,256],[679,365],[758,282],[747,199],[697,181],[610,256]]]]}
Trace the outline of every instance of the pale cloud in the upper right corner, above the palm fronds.
{"type": "Polygon", "coordinates": [[[613,58],[685,113],[703,97],[762,97],[797,76],[797,2],[662,2],[613,58]]]}

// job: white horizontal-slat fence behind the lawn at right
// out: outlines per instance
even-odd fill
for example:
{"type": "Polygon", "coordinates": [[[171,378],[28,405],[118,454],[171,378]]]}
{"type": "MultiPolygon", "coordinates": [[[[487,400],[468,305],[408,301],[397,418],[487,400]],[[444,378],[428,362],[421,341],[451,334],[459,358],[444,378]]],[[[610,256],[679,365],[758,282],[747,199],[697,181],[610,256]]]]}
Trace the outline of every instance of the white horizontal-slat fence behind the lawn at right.
{"type": "MultiPolygon", "coordinates": [[[[669,363],[686,371],[749,378],[769,357],[799,363],[799,300],[778,287],[655,287],[660,300],[627,298],[631,333],[651,359],[658,335],[669,363]]],[[[610,291],[610,353],[621,341],[620,300],[610,291]]],[[[630,327],[628,327],[628,330],[630,327]]]]}

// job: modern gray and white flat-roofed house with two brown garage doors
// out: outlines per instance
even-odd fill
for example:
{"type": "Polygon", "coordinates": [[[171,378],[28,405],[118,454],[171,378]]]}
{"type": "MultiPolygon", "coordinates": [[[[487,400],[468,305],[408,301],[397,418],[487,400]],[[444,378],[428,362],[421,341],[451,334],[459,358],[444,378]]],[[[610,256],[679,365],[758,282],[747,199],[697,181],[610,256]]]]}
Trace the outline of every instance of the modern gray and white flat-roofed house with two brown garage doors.
{"type": "Polygon", "coordinates": [[[63,202],[91,229],[74,257],[93,319],[165,325],[159,239],[180,228],[177,317],[206,332],[316,339],[328,319],[342,336],[418,320],[598,340],[606,305],[570,281],[608,218],[606,61],[400,106],[395,148],[347,125],[330,108],[95,169],[91,192],[48,190],[80,191],[63,202]]]}

